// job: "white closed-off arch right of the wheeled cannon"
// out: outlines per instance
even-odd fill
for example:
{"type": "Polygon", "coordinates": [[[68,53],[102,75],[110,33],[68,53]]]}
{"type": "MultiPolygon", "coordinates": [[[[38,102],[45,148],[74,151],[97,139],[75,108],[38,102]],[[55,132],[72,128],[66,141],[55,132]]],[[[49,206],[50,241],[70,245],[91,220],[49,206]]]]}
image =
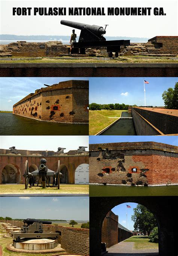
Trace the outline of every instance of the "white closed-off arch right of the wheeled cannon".
{"type": "Polygon", "coordinates": [[[89,184],[89,164],[80,164],[75,170],[75,184],[89,184]]]}

